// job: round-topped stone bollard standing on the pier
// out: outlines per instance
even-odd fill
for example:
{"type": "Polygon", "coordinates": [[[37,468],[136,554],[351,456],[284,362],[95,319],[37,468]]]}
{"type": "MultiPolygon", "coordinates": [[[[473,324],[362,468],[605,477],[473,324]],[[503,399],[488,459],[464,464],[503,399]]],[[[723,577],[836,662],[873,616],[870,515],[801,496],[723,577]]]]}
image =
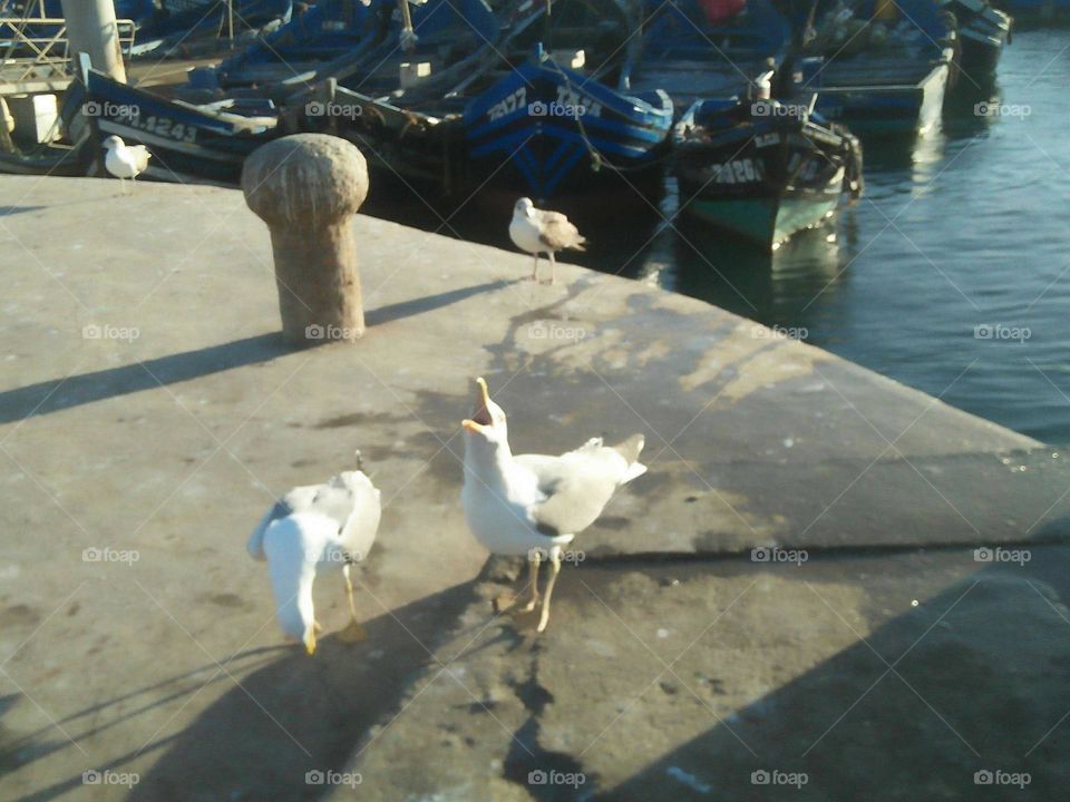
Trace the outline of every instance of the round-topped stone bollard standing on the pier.
{"type": "Polygon", "coordinates": [[[245,203],[271,229],[282,333],[315,344],[364,333],[350,218],[368,195],[356,146],[323,134],[268,143],[242,168],[245,203]]]}

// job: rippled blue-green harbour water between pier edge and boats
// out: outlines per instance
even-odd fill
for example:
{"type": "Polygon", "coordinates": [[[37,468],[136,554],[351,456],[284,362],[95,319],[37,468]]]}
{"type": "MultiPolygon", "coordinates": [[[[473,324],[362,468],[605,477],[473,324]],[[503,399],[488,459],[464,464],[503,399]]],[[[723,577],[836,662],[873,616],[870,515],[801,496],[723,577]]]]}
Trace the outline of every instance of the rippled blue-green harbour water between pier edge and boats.
{"type": "MultiPolygon", "coordinates": [[[[1018,33],[994,94],[1002,116],[974,114],[989,89],[963,91],[942,131],[870,144],[866,197],[771,256],[673,219],[670,187],[621,225],[573,213],[592,247],[568,258],[805,330],[947,403],[1068,443],[1070,30],[1018,33]]],[[[509,213],[466,209],[442,232],[512,247],[509,213]]],[[[441,228],[426,209],[402,218],[419,224],[414,214],[441,228]]]]}

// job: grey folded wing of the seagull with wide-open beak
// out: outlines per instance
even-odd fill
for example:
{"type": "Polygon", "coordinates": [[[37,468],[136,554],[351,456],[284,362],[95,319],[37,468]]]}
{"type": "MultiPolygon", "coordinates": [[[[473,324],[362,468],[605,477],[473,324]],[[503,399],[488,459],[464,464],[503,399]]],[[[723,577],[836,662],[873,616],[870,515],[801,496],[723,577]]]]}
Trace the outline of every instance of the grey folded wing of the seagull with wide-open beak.
{"type": "Polygon", "coordinates": [[[528,514],[535,528],[548,537],[576,535],[594,524],[629,471],[621,453],[602,446],[601,439],[561,457],[521,454],[514,459],[538,479],[545,500],[528,514]]]}

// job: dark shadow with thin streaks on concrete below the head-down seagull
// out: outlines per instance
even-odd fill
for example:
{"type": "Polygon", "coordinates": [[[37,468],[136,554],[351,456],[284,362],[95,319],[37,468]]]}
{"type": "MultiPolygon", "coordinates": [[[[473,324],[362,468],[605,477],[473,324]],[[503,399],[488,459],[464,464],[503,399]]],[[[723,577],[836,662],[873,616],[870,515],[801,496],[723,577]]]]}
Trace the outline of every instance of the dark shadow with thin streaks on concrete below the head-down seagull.
{"type": "MultiPolygon", "coordinates": [[[[473,586],[458,585],[366,622],[370,637],[363,643],[342,644],[329,634],[311,658],[291,646],[242,652],[223,662],[226,672],[241,677],[240,684],[210,663],[59,723],[80,742],[160,705],[177,712],[205,684],[234,683],[184,731],[87,769],[121,773],[138,755],[160,752],[128,799],[317,799],[324,788],[308,784],[305,774],[342,771],[353,744],[398,705],[411,678],[427,665],[439,633],[471,602],[473,586]],[[250,658],[255,658],[252,667],[250,658]],[[143,701],[130,708],[133,697],[143,701]],[[95,723],[91,730],[71,726],[87,717],[95,723]]],[[[71,747],[61,740],[50,744],[31,736],[19,751],[30,760],[42,759],[71,747]]],[[[79,774],[25,799],[45,802],[81,784],[79,774]]]]}

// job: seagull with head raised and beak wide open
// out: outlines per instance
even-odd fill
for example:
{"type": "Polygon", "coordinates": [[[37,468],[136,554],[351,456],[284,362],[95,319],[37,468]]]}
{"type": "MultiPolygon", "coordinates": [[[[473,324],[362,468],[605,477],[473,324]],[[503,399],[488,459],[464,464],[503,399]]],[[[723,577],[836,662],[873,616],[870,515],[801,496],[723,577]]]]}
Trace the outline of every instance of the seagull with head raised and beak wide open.
{"type": "Polygon", "coordinates": [[[549,620],[549,597],[561,571],[563,548],[591,526],[622,485],[646,472],[639,462],[645,442],[632,434],[617,446],[592,438],[560,457],[513,456],[505,412],[490,400],[487,382],[476,379],[476,404],[465,430],[465,519],[489,551],[527,556],[531,598],[518,609],[538,605],[538,567],[548,559],[538,632],[549,620]]]}

